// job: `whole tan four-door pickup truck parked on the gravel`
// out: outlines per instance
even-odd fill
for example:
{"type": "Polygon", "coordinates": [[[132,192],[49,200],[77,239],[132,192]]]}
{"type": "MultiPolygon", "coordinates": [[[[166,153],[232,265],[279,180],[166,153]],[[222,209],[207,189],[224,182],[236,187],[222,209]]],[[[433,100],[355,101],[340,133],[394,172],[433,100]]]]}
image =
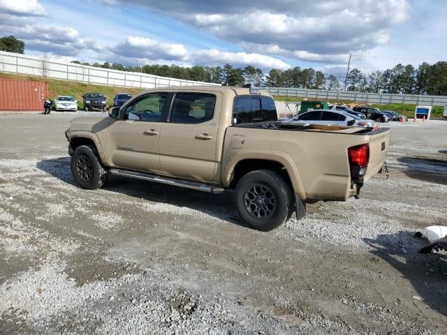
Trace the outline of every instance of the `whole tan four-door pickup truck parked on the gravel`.
{"type": "Polygon", "coordinates": [[[82,187],[109,174],[209,193],[234,190],[241,218],[272,230],[306,213],[306,202],[358,196],[381,170],[386,128],[284,124],[270,94],[242,87],[151,89],[79,117],[66,131],[82,187]]]}

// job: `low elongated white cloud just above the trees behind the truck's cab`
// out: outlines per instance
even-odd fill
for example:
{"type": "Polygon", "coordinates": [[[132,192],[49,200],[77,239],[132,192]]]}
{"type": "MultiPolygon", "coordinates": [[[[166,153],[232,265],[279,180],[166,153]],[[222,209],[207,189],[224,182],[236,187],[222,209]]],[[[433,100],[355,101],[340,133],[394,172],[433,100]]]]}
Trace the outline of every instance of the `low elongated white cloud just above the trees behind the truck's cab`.
{"type": "Polygon", "coordinates": [[[286,62],[281,61],[270,56],[265,56],[264,54],[246,52],[223,52],[217,49],[211,50],[199,50],[191,54],[191,60],[193,64],[201,64],[207,66],[222,66],[223,64],[229,63],[233,66],[247,66],[251,65],[255,68],[270,69],[279,68],[281,70],[286,70],[291,68],[286,62]]]}

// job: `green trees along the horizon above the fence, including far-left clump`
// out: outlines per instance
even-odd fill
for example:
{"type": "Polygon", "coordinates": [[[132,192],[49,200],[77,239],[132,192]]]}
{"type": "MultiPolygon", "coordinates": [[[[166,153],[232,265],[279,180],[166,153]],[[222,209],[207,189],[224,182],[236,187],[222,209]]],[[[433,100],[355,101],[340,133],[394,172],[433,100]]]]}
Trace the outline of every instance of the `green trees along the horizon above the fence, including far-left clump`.
{"type": "MultiPolygon", "coordinates": [[[[0,38],[0,50],[24,53],[24,42],[14,36],[0,38]]],[[[273,68],[263,73],[261,68],[254,66],[233,67],[225,66],[191,66],[183,67],[172,65],[144,65],[124,66],[122,64],[105,62],[99,64],[76,64],[95,66],[98,68],[111,68],[129,72],[141,72],[161,77],[172,77],[200,82],[213,82],[229,86],[241,86],[246,83],[258,87],[294,87],[303,89],[328,89],[360,91],[369,93],[390,94],[430,94],[435,96],[447,95],[447,61],[438,61],[436,64],[423,63],[417,68],[411,64],[397,64],[393,68],[383,71],[362,73],[353,68],[348,75],[325,74],[313,68],[300,68],[295,66],[288,70],[273,68]]]]}

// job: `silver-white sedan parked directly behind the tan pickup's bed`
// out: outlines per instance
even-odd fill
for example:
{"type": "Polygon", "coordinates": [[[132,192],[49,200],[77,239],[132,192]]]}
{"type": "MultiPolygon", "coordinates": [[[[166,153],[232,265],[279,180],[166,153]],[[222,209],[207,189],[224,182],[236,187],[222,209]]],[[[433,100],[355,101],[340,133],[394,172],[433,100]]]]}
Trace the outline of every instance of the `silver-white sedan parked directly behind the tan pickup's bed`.
{"type": "Polygon", "coordinates": [[[286,124],[324,124],[326,126],[374,127],[374,121],[360,119],[342,110],[312,110],[290,119],[281,119],[286,124]]]}

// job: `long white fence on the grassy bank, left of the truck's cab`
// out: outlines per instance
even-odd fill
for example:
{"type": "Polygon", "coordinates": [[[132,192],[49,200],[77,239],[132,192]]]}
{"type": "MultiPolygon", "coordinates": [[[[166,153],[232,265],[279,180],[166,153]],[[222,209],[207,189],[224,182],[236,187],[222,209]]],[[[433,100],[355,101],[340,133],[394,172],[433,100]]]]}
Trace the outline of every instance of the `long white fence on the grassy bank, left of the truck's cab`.
{"type": "Polygon", "coordinates": [[[60,80],[87,82],[120,87],[152,89],[166,86],[218,85],[209,82],[194,82],[146,73],[126,72],[110,68],[95,68],[73,63],[51,61],[45,57],[33,57],[0,51],[0,72],[36,75],[60,80]]]}

